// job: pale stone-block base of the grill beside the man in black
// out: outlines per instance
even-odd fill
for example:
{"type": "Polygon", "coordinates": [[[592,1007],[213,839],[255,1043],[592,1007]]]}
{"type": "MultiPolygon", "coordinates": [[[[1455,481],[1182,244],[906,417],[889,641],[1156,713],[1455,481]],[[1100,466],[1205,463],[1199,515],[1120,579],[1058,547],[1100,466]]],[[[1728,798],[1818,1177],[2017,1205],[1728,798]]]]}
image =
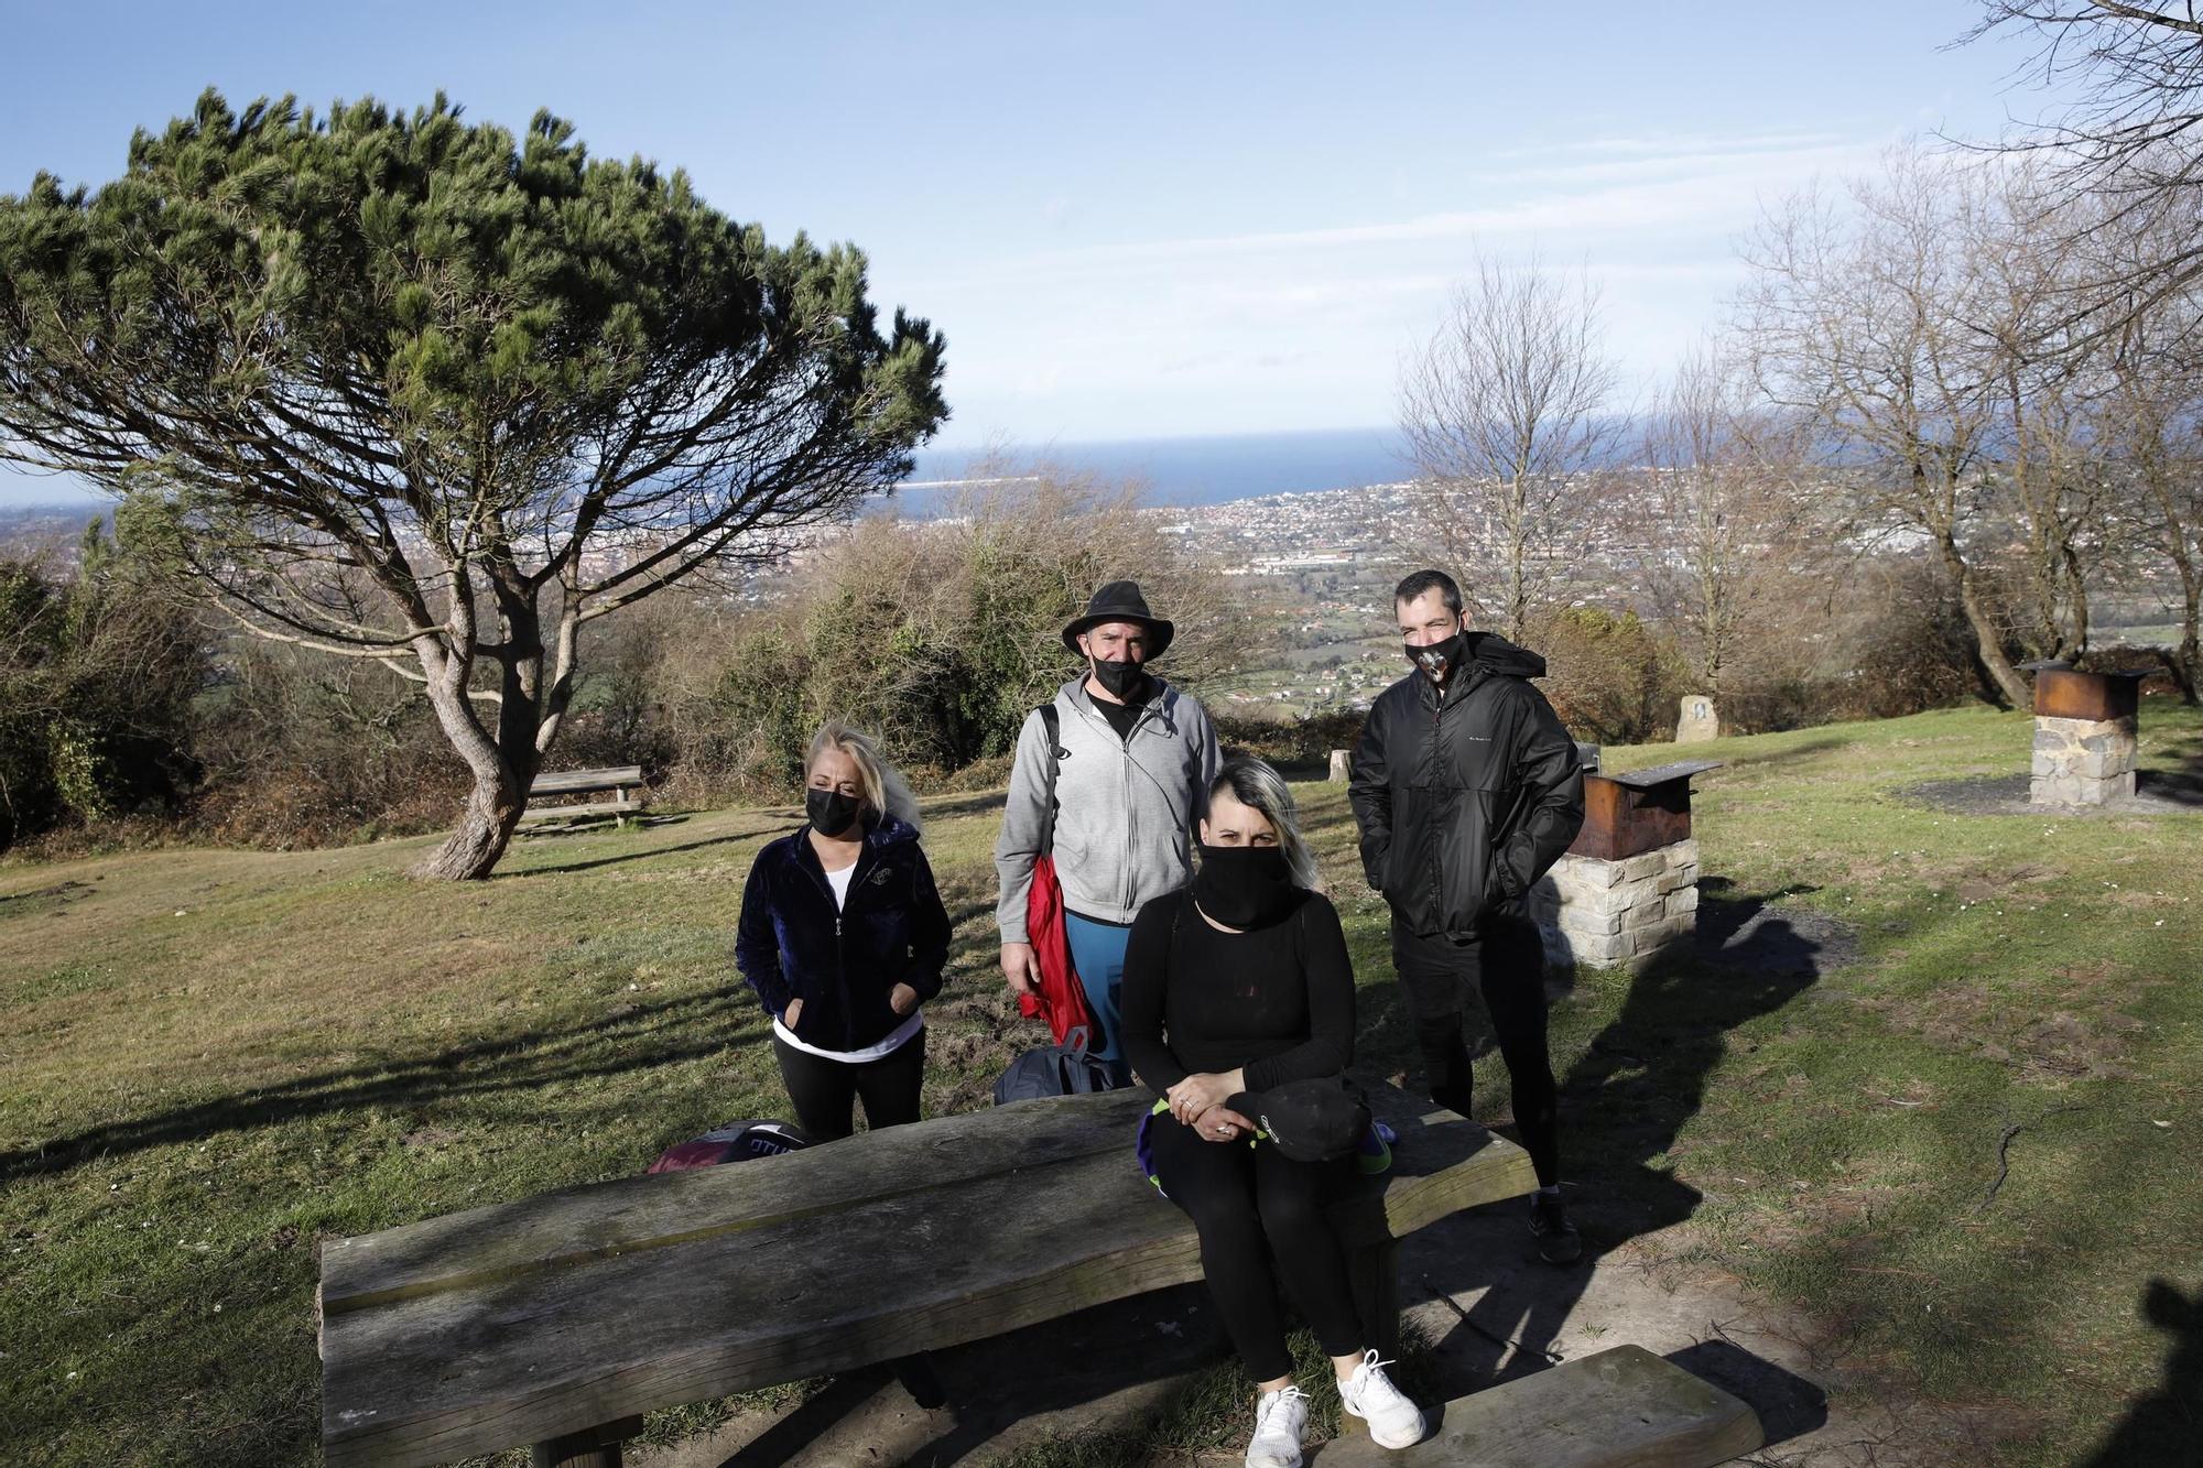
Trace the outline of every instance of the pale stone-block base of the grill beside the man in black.
{"type": "Polygon", "coordinates": [[[1621,860],[1564,855],[1529,897],[1555,968],[1641,968],[1699,935],[1699,842],[1621,860]]]}

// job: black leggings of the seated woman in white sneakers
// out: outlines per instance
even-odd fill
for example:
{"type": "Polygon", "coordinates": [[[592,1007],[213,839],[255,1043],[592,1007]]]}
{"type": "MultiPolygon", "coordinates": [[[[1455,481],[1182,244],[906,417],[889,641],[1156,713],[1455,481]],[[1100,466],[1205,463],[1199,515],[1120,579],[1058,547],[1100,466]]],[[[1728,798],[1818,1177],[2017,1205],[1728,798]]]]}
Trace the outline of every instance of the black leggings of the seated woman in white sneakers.
{"type": "Polygon", "coordinates": [[[1348,1159],[1293,1162],[1267,1144],[1203,1142],[1168,1111],[1154,1118],[1148,1140],[1163,1192],[1194,1219],[1201,1272],[1258,1382],[1293,1369],[1271,1259],[1326,1356],[1366,1345],[1346,1252],[1324,1217],[1348,1159]]]}

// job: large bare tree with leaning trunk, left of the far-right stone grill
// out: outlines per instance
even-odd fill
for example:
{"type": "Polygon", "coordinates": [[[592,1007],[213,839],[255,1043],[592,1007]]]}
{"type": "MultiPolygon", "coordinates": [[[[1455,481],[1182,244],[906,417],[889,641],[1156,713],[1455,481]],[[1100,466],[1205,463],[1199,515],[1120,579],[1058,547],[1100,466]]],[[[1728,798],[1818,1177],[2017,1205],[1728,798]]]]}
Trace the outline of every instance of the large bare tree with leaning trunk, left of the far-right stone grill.
{"type": "Polygon", "coordinates": [[[1967,249],[1976,172],[1899,150],[1851,209],[1815,194],[1747,242],[1754,375],[1776,406],[1806,412],[1892,538],[1917,538],[1958,591],[1996,694],[2022,708],[1978,538],[1994,494],[2003,375],[1974,322],[1989,320],[1967,249]]]}

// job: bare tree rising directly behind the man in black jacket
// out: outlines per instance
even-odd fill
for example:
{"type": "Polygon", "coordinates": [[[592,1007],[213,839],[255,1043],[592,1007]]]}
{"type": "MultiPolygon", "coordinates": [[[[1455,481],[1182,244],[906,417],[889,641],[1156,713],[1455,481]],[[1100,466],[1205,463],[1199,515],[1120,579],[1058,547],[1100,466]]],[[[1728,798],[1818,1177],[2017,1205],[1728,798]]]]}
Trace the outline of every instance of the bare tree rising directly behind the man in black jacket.
{"type": "Polygon", "coordinates": [[[1421,529],[1476,611],[1522,637],[1595,542],[1615,364],[1599,293],[1538,260],[1478,258],[1401,373],[1401,434],[1425,481],[1421,529]]]}

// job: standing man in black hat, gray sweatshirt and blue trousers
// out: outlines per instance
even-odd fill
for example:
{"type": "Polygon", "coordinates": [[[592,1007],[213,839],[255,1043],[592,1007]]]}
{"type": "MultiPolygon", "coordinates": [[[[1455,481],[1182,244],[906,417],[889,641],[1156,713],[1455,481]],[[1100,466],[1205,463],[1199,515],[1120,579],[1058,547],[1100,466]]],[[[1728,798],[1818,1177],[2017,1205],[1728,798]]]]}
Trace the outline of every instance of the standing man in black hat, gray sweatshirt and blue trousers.
{"type": "Polygon", "coordinates": [[[1055,690],[1053,749],[1040,710],[1027,716],[994,844],[1002,974],[1020,994],[1040,979],[1027,895],[1049,844],[1071,965],[1102,1032],[1088,1045],[1117,1065],[1117,992],[1132,917],[1192,879],[1194,822],[1220,763],[1209,716],[1148,668],[1174,633],[1148,611],[1137,582],[1108,582],[1064,626],[1064,648],[1086,672],[1055,690]]]}

